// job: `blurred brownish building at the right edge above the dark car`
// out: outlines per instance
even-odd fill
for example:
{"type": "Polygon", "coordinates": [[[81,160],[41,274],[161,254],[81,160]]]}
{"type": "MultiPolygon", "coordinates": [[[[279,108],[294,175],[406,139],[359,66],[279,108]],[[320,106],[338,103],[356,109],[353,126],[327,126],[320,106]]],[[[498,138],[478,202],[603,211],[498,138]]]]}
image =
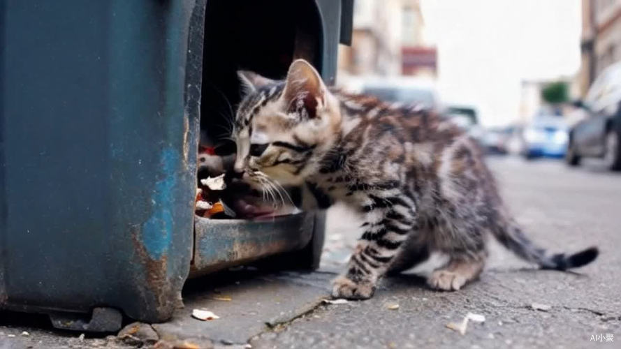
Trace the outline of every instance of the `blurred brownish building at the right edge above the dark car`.
{"type": "Polygon", "coordinates": [[[621,61],[621,0],[582,0],[582,23],[578,85],[585,96],[601,70],[621,61]]]}

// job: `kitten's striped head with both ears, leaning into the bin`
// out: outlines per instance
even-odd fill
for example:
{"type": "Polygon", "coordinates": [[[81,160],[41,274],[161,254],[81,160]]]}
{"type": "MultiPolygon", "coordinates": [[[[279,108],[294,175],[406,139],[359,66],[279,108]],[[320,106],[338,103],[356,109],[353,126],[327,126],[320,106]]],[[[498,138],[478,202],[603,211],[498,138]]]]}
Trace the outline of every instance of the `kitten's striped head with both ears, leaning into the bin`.
{"type": "Polygon", "coordinates": [[[316,171],[319,158],[339,129],[339,108],[319,73],[302,59],[285,80],[240,72],[246,96],[235,116],[235,172],[263,184],[300,184],[316,171]],[[269,180],[268,179],[268,180],[269,180]]]}

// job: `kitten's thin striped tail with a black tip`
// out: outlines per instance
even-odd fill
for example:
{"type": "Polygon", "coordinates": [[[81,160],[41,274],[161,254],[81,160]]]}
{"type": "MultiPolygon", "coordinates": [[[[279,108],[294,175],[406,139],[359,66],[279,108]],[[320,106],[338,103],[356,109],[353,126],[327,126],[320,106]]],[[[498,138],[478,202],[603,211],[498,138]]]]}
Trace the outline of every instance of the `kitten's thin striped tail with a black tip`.
{"type": "Polygon", "coordinates": [[[544,248],[535,246],[516,224],[508,224],[506,228],[496,230],[495,237],[520,258],[539,265],[541,269],[567,270],[582,267],[595,260],[599,253],[597,247],[593,246],[571,255],[548,255],[544,248]]]}

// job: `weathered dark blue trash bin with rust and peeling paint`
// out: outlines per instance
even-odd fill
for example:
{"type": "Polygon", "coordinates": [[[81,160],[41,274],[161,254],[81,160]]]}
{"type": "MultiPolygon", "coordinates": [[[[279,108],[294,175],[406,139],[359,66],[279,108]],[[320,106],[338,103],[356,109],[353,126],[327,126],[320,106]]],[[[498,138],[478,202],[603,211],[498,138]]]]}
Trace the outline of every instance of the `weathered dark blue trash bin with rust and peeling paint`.
{"type": "Polygon", "coordinates": [[[321,250],[321,214],[196,217],[196,149],[238,67],[333,82],[347,24],[347,0],[0,0],[0,309],[115,331],[170,318],[190,272],[321,250]]]}

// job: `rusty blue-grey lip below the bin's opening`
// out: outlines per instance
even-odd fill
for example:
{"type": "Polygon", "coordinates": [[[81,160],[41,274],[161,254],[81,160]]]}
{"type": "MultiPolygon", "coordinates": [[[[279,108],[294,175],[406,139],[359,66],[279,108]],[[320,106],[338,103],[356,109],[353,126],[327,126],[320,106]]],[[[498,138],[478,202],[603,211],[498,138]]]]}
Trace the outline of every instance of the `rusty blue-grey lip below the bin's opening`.
{"type": "Polygon", "coordinates": [[[197,217],[191,276],[303,248],[313,227],[314,213],[305,212],[266,221],[197,217]]]}

